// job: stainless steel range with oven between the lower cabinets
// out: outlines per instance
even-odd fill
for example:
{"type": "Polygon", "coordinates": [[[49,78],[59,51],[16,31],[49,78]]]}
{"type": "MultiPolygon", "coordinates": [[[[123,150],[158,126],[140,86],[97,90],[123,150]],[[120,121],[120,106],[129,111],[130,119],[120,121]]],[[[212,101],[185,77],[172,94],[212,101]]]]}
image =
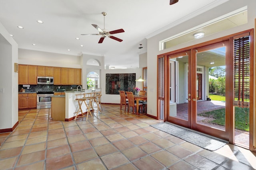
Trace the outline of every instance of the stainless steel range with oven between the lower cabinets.
{"type": "Polygon", "coordinates": [[[36,92],[37,93],[37,109],[51,108],[54,92],[36,92]]]}

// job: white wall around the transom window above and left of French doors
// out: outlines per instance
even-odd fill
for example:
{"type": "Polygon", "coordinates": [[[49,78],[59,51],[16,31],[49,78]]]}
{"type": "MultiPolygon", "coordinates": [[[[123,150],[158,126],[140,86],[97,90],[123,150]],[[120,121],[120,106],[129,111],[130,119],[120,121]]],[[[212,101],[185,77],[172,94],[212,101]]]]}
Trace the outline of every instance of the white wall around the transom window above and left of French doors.
{"type": "MultiPolygon", "coordinates": [[[[247,29],[254,28],[254,18],[256,18],[256,0],[229,0],[212,10],[208,10],[207,12],[198,15],[186,22],[183,22],[167,31],[164,31],[154,37],[149,37],[147,41],[147,57],[148,57],[148,114],[157,115],[157,96],[156,96],[156,88],[157,88],[157,55],[164,54],[170,51],[174,51],[177,49],[182,49],[184,47],[189,47],[191,45],[199,44],[205,41],[209,41],[212,39],[216,39],[219,37],[224,37],[226,35],[230,35],[232,33],[237,33],[240,31],[244,31],[247,29]],[[205,23],[209,20],[213,20],[224,14],[232,12],[234,10],[238,10],[244,6],[248,6],[248,23],[244,25],[240,25],[219,33],[215,33],[213,35],[209,35],[203,37],[201,39],[195,39],[188,43],[184,43],[181,45],[177,45],[162,51],[159,51],[159,41],[166,39],[168,37],[174,36],[180,32],[186,31],[190,28],[196,27],[202,23],[205,23]]],[[[166,18],[167,19],[167,18],[166,18]]]]}

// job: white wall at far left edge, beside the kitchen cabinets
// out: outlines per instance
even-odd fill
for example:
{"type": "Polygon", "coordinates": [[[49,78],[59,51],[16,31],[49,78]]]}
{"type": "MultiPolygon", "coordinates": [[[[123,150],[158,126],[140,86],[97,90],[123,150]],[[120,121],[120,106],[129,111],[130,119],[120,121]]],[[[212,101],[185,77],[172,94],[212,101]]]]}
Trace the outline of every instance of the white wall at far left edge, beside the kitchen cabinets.
{"type": "Polygon", "coordinates": [[[18,44],[0,23],[0,129],[12,128],[18,122],[18,44]]]}

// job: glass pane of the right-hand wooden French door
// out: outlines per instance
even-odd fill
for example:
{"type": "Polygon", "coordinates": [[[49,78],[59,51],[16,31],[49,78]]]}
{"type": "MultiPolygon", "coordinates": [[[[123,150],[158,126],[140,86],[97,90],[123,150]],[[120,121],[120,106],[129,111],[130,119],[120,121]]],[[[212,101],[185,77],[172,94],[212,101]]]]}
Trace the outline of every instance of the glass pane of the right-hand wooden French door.
{"type": "Polygon", "coordinates": [[[213,134],[226,131],[226,47],[216,46],[196,53],[196,119],[192,123],[194,129],[211,129],[213,134]]]}

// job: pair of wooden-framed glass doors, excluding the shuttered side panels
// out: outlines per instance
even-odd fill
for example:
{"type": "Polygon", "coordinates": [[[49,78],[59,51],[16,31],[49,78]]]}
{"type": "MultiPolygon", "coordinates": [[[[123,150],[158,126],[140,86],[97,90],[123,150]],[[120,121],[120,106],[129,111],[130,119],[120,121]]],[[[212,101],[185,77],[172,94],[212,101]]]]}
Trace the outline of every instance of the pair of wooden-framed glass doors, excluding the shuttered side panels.
{"type": "MultiPolygon", "coordinates": [[[[228,132],[230,131],[228,114],[225,114],[228,108],[232,107],[225,102],[232,100],[232,96],[224,96],[226,100],[214,101],[210,100],[209,80],[221,77],[223,80],[232,81],[232,71],[226,71],[226,74],[212,77],[209,70],[221,68],[228,70],[228,64],[232,66],[232,60],[228,59],[231,56],[226,45],[229,41],[207,45],[204,47],[182,51],[168,55],[169,73],[167,81],[170,88],[170,104],[168,105],[169,112],[167,113],[167,121],[207,133],[222,139],[228,140],[228,132]],[[175,63],[175,64],[173,64],[175,63]],[[211,78],[209,78],[209,76],[211,78]],[[176,98],[174,98],[174,94],[176,98]],[[216,126],[211,123],[210,111],[222,109],[224,119],[223,126],[216,126]]],[[[232,70],[232,68],[231,68],[232,70]]],[[[232,86],[226,87],[225,82],[221,89],[226,92],[232,92],[232,86]]],[[[231,102],[232,104],[232,102],[231,102]]]]}

